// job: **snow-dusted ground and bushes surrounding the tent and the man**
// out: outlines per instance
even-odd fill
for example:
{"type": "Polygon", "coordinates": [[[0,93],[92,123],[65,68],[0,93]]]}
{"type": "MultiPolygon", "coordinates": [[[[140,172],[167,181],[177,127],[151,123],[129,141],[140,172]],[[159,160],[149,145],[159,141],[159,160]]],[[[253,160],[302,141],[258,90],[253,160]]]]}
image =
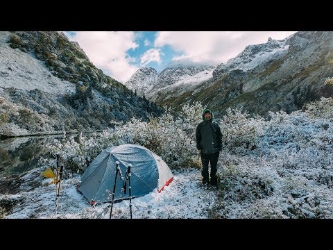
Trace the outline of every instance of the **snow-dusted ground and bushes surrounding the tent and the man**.
{"type": "MultiPolygon", "coordinates": [[[[54,145],[46,147],[53,155],[59,153],[67,159],[65,169],[71,176],[70,170],[85,170],[85,156],[95,158],[106,144],[112,143],[114,135],[117,135],[117,144],[151,144],[151,141],[163,144],[164,150],[158,155],[169,167],[173,166],[174,181],[161,193],[154,190],[133,199],[135,218],[326,219],[333,217],[332,107],[332,98],[323,98],[309,104],[305,112],[280,111],[271,113],[269,120],[247,119],[246,113],[228,109],[220,122],[223,150],[217,165],[221,176],[219,190],[202,187],[198,169],[201,166],[189,158],[196,157],[192,131],[198,120],[193,117],[200,118],[200,105],[184,106],[185,117],[176,121],[168,115],[160,117],[154,125],[153,136],[150,126],[133,119],[93,138],[80,136],[79,142],[55,141],[54,145]],[[173,142],[186,131],[189,135],[184,140],[184,151],[179,153],[178,144],[173,142]],[[173,160],[174,156],[178,156],[177,161],[173,160]]],[[[54,159],[46,159],[45,163],[55,165],[54,159]]],[[[56,211],[56,185],[42,186],[42,170],[34,169],[19,178],[12,185],[15,190],[0,196],[0,217],[108,218],[110,203],[90,207],[85,197],[76,191],[80,183],[77,174],[63,181],[56,211]]],[[[0,179],[2,194],[7,191],[3,187],[6,181],[0,179]]],[[[115,203],[112,217],[129,218],[129,202],[115,203]]]]}

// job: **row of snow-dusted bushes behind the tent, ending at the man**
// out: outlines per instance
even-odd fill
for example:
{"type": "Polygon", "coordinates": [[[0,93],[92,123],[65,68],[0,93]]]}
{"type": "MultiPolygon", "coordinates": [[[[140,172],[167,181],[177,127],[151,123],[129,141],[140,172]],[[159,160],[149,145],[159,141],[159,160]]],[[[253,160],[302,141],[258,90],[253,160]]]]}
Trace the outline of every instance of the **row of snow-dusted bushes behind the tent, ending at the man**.
{"type": "MultiPolygon", "coordinates": [[[[169,167],[195,167],[198,162],[195,131],[201,121],[200,103],[182,107],[175,119],[169,108],[161,117],[152,118],[150,122],[131,119],[126,124],[118,123],[114,129],[95,133],[87,139],[80,135],[78,142],[74,137],[67,142],[55,140],[47,145],[53,156],[60,154],[66,168],[74,172],[83,172],[86,163],[91,162],[106,147],[133,143],[150,149],[160,156],[169,167]]],[[[44,160],[44,165],[55,165],[54,159],[44,160]]]]}

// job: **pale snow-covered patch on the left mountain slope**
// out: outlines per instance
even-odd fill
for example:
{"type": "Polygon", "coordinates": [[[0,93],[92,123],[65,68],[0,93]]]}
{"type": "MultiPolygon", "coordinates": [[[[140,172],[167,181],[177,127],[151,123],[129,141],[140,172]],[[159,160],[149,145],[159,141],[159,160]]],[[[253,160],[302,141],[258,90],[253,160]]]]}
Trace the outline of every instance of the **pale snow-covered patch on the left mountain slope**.
{"type": "Polygon", "coordinates": [[[10,32],[0,32],[0,93],[2,88],[20,90],[42,90],[51,94],[75,92],[75,86],[69,81],[62,81],[53,76],[45,63],[29,53],[12,49],[6,43],[10,32]]]}

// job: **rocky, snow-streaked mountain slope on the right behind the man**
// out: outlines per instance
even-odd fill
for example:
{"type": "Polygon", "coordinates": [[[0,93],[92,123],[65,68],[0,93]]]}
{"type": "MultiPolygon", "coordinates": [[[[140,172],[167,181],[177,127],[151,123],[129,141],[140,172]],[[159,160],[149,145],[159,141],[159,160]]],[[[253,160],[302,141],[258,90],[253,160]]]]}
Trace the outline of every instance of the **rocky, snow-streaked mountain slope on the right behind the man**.
{"type": "Polygon", "coordinates": [[[216,115],[223,115],[228,107],[265,116],[268,111],[290,113],[333,95],[332,67],[333,32],[301,31],[283,40],[269,38],[264,44],[248,45],[217,67],[179,74],[182,80],[172,77],[182,69],[165,69],[150,83],[153,88],[146,97],[173,110],[187,101],[201,101],[216,115]],[[171,77],[162,77],[169,72],[171,77]]]}

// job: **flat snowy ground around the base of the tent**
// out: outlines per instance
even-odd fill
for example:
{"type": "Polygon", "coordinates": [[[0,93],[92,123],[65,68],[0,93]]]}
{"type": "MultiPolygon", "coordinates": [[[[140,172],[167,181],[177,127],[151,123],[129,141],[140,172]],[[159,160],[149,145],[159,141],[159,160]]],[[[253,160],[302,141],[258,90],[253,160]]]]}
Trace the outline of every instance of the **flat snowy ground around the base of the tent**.
{"type": "MultiPolygon", "coordinates": [[[[0,199],[19,200],[5,218],[109,219],[111,203],[89,206],[83,194],[76,190],[76,186],[80,183],[79,175],[62,181],[58,208],[56,208],[56,185],[42,186],[44,178],[39,176],[40,172],[41,168],[37,168],[24,176],[25,182],[19,194],[0,196],[0,199]]],[[[154,190],[144,197],[132,199],[133,219],[208,217],[208,211],[216,201],[217,192],[200,185],[200,170],[173,170],[173,174],[173,181],[162,192],[154,190]]],[[[130,218],[129,200],[114,203],[112,218],[130,218]]]]}

